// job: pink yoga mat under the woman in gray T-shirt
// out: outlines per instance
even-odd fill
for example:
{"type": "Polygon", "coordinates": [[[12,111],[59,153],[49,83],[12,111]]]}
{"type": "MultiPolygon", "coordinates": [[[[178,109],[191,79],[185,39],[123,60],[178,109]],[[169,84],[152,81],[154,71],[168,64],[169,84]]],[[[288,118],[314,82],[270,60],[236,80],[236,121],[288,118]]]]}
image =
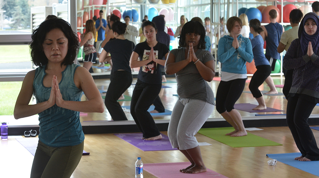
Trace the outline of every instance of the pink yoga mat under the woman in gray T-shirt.
{"type": "Polygon", "coordinates": [[[179,170],[186,168],[190,162],[174,162],[174,163],[151,163],[144,164],[143,170],[151,173],[158,178],[207,178],[207,177],[220,177],[228,178],[222,174],[207,169],[207,172],[198,174],[185,174],[179,170]]]}

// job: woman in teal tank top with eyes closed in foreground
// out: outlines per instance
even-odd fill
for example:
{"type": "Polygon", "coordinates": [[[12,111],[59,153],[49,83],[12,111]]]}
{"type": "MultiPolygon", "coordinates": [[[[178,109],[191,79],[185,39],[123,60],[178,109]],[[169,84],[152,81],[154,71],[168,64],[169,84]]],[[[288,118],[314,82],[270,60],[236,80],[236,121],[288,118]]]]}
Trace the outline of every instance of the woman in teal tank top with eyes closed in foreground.
{"type": "Polygon", "coordinates": [[[79,112],[104,112],[92,76],[73,64],[77,48],[78,38],[63,19],[48,19],[32,33],[31,58],[39,67],[26,74],[14,108],[16,119],[39,114],[31,178],[70,177],[84,146],[79,112]],[[82,91],[87,101],[81,101],[82,91]],[[29,104],[32,95],[36,104],[29,104]]]}

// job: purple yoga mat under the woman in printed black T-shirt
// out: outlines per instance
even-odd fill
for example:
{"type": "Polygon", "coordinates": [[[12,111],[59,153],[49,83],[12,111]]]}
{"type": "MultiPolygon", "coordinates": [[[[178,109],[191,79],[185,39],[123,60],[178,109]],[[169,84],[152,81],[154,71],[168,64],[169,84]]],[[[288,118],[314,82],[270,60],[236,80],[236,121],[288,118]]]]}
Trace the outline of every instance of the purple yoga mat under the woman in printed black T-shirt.
{"type": "Polygon", "coordinates": [[[171,142],[169,142],[168,136],[161,134],[160,140],[143,140],[142,133],[115,133],[114,135],[129,142],[143,151],[163,151],[163,150],[177,150],[172,148],[171,142]]]}

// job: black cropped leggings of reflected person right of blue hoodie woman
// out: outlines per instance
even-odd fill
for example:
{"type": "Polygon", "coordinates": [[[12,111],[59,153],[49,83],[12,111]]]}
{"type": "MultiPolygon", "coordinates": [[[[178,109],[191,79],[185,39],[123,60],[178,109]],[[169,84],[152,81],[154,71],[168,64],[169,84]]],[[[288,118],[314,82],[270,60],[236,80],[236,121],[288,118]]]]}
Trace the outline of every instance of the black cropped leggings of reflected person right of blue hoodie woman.
{"type": "Polygon", "coordinates": [[[257,71],[251,77],[251,81],[249,83],[249,90],[253,94],[255,98],[259,98],[263,96],[258,89],[258,87],[263,84],[266,78],[271,74],[271,66],[270,65],[259,65],[256,66],[257,71]]]}

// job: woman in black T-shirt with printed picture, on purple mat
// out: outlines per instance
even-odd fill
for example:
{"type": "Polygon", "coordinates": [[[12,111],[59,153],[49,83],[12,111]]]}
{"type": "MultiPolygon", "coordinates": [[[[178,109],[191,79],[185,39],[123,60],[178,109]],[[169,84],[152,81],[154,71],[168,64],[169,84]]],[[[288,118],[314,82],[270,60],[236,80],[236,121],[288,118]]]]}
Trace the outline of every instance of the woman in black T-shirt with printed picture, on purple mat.
{"type": "Polygon", "coordinates": [[[169,48],[156,40],[156,26],[146,21],[142,25],[146,41],[139,43],[133,49],[130,58],[131,68],[140,68],[137,82],[133,90],[130,111],[134,121],[143,133],[145,140],[162,139],[162,135],[147,111],[162,88],[160,65],[164,66],[169,48]],[[138,61],[138,58],[141,59],[138,61]],[[147,67],[154,64],[154,67],[147,67]]]}

